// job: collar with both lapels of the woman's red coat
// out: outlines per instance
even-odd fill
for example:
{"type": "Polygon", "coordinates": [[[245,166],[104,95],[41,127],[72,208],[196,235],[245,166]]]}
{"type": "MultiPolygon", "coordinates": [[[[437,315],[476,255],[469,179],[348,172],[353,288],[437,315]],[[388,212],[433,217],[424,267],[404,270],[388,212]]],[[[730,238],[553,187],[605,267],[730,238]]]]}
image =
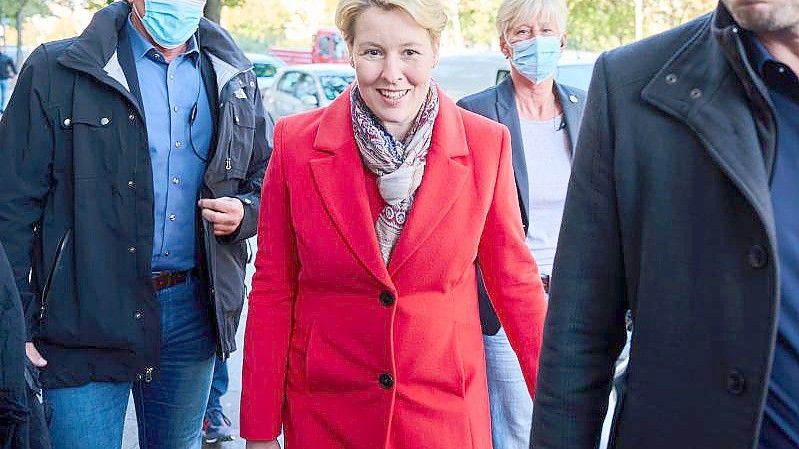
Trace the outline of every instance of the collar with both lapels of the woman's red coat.
{"type": "Polygon", "coordinates": [[[440,107],[433,128],[422,185],[405,228],[383,263],[366,192],[365,168],[352,131],[350,89],[320,117],[311,170],[325,208],[352,253],[379,282],[393,286],[392,275],[416,253],[452,208],[469,175],[469,149],[459,109],[439,89],[440,107]]]}

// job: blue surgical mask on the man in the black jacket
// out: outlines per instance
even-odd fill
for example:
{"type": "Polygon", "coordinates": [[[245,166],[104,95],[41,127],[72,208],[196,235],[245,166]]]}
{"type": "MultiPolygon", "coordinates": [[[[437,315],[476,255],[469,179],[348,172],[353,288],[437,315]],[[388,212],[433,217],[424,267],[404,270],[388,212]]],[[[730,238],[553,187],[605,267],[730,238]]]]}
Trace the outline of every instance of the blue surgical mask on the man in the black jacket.
{"type": "Polygon", "coordinates": [[[205,0],[145,0],[144,17],[133,11],[156,44],[173,49],[180,47],[197,31],[205,0]]]}

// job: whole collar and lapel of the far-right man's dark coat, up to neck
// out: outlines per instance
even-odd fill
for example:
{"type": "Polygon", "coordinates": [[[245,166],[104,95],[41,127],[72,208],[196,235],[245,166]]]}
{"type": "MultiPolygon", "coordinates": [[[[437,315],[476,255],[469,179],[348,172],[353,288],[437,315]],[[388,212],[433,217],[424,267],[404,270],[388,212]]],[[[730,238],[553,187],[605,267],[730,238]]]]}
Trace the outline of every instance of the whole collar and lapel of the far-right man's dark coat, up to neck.
{"type": "Polygon", "coordinates": [[[641,98],[693,130],[757,210],[774,242],[769,195],[774,132],[765,86],[752,71],[741,28],[726,8],[719,3],[700,20],[698,31],[649,81],[641,98]]]}

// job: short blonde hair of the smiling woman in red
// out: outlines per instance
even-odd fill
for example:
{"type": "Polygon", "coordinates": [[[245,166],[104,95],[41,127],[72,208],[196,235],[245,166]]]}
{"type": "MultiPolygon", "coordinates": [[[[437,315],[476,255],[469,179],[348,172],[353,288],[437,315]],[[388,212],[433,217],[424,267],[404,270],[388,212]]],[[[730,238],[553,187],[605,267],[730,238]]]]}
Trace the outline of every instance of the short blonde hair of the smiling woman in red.
{"type": "Polygon", "coordinates": [[[336,7],[336,26],[352,46],[355,41],[355,21],[369,8],[387,11],[402,10],[426,29],[433,44],[438,44],[441,32],[447,26],[446,8],[441,0],[339,0],[336,7]]]}

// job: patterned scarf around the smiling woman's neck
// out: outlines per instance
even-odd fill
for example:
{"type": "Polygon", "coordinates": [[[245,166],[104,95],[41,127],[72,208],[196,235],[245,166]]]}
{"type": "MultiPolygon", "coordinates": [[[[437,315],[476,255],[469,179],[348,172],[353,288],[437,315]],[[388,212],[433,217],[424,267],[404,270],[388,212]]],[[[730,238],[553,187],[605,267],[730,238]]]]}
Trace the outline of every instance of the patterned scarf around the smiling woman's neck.
{"type": "Polygon", "coordinates": [[[364,165],[377,175],[380,196],[386,202],[375,223],[383,262],[399,240],[416,189],[422,183],[427,151],[438,115],[438,92],[431,83],[422,108],[402,141],[396,140],[361,98],[357,85],[351,92],[352,129],[364,165]]]}

